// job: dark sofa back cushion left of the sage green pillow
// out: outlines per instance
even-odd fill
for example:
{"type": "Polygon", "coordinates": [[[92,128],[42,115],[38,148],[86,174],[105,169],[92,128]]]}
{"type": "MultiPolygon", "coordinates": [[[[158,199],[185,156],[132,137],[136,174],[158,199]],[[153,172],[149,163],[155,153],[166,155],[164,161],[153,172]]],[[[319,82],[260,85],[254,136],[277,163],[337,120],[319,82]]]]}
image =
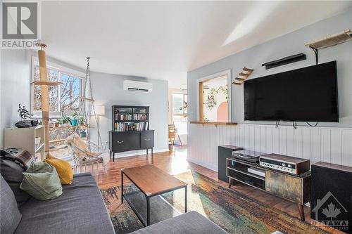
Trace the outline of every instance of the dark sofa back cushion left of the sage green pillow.
{"type": "Polygon", "coordinates": [[[23,172],[25,171],[19,164],[11,160],[0,160],[0,172],[13,191],[18,206],[30,199],[30,195],[20,189],[20,183],[23,181],[23,172]]]}

